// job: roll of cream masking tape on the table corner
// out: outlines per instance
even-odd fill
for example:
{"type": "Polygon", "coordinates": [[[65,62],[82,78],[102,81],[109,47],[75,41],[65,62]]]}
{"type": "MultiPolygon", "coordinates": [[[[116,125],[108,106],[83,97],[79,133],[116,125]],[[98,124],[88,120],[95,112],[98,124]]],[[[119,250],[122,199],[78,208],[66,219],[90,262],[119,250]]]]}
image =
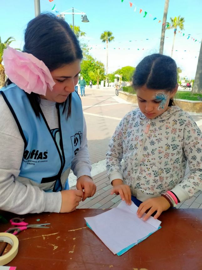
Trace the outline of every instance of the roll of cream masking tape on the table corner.
{"type": "Polygon", "coordinates": [[[0,233],[0,242],[6,242],[12,246],[11,250],[3,256],[0,256],[0,265],[5,265],[12,261],[18,253],[18,238],[9,233],[0,233]]]}

